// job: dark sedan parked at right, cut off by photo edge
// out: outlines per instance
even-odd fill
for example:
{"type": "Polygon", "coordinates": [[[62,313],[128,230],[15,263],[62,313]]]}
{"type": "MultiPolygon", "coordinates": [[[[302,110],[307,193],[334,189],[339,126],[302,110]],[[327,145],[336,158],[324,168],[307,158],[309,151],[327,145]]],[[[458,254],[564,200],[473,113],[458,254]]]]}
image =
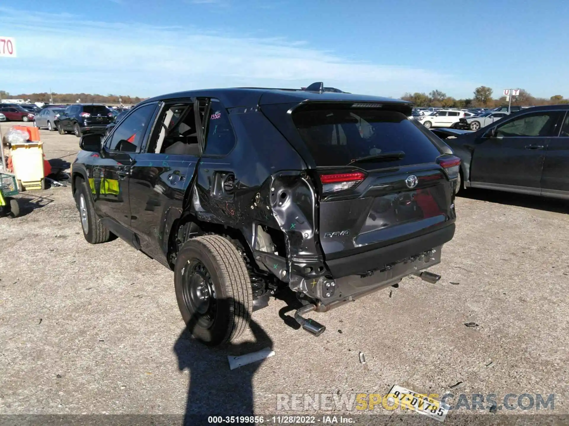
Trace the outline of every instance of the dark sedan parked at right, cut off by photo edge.
{"type": "Polygon", "coordinates": [[[523,109],[446,139],[461,185],[569,199],[569,105],[523,109]]]}

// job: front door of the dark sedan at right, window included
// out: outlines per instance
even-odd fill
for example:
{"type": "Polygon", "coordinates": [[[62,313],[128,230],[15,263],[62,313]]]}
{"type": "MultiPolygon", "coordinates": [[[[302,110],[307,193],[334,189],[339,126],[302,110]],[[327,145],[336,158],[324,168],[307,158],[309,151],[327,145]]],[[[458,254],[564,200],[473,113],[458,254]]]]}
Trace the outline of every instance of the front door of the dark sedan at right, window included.
{"type": "Polygon", "coordinates": [[[559,116],[559,111],[531,112],[486,131],[472,156],[472,186],[539,195],[545,152],[559,116]]]}

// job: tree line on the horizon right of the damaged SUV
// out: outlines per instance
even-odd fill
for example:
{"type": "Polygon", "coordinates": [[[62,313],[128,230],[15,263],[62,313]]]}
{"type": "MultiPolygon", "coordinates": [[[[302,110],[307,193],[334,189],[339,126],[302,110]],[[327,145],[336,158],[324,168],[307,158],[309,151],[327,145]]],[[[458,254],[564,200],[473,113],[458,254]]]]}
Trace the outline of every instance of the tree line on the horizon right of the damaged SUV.
{"type": "MultiPolygon", "coordinates": [[[[473,97],[469,99],[455,99],[447,96],[440,90],[432,90],[428,95],[426,93],[415,92],[413,94],[406,93],[401,99],[411,101],[418,107],[443,107],[443,108],[494,108],[502,105],[508,105],[506,97],[492,98],[493,90],[490,87],[476,87],[473,97]]],[[[562,95],[553,95],[549,99],[533,97],[527,90],[520,89],[519,95],[512,98],[512,105],[521,106],[542,106],[542,105],[559,105],[560,103],[569,103],[569,99],[563,98],[562,95]]]]}

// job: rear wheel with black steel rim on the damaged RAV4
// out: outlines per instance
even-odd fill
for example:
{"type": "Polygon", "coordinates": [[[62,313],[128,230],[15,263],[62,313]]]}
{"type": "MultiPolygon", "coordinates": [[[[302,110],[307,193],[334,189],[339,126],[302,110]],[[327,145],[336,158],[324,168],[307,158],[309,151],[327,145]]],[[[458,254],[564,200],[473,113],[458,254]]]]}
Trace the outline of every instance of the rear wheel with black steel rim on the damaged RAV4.
{"type": "Polygon", "coordinates": [[[245,262],[218,235],[188,240],[176,257],[174,288],[188,331],[208,346],[237,339],[251,317],[253,296],[245,262]]]}

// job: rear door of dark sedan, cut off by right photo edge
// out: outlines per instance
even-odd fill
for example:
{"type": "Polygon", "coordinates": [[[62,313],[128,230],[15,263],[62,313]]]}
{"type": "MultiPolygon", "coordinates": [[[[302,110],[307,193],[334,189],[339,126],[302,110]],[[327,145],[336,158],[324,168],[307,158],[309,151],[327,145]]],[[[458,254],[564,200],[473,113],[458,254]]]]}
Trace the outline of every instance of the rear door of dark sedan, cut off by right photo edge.
{"type": "Polygon", "coordinates": [[[559,136],[551,137],[543,162],[541,195],[569,198],[569,111],[564,111],[559,136]]]}

